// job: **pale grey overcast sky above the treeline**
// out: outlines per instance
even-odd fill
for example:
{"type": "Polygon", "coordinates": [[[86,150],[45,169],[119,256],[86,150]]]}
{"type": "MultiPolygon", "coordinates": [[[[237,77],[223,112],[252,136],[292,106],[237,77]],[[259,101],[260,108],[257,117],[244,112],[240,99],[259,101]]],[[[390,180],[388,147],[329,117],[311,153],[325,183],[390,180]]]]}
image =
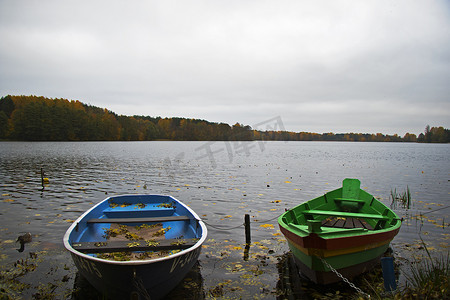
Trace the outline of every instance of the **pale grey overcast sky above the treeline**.
{"type": "Polygon", "coordinates": [[[289,131],[450,128],[450,1],[0,0],[8,94],[289,131]]]}

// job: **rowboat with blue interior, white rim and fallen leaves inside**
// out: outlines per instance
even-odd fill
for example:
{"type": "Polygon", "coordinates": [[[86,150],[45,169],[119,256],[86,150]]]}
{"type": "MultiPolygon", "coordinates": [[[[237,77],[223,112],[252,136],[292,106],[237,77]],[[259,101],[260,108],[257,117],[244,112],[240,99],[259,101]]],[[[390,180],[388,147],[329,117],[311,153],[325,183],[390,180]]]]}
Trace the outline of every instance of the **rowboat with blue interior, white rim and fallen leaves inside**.
{"type": "Polygon", "coordinates": [[[197,262],[207,229],[164,195],[109,197],[80,216],[64,246],[82,276],[107,298],[161,299],[197,262]]]}

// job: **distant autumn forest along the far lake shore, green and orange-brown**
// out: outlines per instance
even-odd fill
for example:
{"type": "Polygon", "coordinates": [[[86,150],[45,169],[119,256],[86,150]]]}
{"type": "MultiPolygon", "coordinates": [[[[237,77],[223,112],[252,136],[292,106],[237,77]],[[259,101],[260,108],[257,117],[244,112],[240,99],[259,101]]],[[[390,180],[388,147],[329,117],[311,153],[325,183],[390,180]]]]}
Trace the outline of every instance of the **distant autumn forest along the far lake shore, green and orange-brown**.
{"type": "Polygon", "coordinates": [[[236,123],[187,118],[117,115],[80,101],[37,96],[0,98],[0,139],[18,141],[364,141],[450,142],[450,130],[426,126],[419,137],[381,133],[311,133],[256,130],[236,123]]]}

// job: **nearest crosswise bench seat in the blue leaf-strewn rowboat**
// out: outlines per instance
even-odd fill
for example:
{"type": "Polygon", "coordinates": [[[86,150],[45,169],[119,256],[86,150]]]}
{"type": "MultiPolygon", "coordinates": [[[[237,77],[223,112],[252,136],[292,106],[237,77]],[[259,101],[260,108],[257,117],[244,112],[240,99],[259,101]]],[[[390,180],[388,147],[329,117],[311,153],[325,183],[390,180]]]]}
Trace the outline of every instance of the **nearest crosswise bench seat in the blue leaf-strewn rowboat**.
{"type": "Polygon", "coordinates": [[[149,243],[145,240],[79,242],[73,243],[72,247],[83,253],[182,250],[194,246],[197,241],[198,239],[161,239],[149,243]]]}

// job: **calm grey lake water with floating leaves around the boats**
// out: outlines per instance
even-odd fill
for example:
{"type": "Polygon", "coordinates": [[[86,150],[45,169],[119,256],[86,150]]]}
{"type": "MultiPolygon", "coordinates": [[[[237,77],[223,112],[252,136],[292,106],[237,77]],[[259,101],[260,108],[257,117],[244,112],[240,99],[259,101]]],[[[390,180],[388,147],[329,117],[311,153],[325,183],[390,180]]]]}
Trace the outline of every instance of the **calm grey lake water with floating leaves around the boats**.
{"type": "Polygon", "coordinates": [[[198,267],[169,299],[276,299],[288,252],[276,218],[347,177],[387,205],[392,190],[409,187],[412,207],[396,209],[405,218],[392,243],[397,258],[422,253],[420,237],[433,253],[448,251],[448,144],[0,142],[0,153],[0,264],[10,273],[21,259],[37,266],[7,288],[24,299],[70,298],[80,280],[62,237],[82,212],[118,194],[170,194],[208,224],[198,267]],[[244,214],[252,220],[247,254],[244,214]],[[15,241],[26,232],[33,242],[20,253],[15,241]]]}

